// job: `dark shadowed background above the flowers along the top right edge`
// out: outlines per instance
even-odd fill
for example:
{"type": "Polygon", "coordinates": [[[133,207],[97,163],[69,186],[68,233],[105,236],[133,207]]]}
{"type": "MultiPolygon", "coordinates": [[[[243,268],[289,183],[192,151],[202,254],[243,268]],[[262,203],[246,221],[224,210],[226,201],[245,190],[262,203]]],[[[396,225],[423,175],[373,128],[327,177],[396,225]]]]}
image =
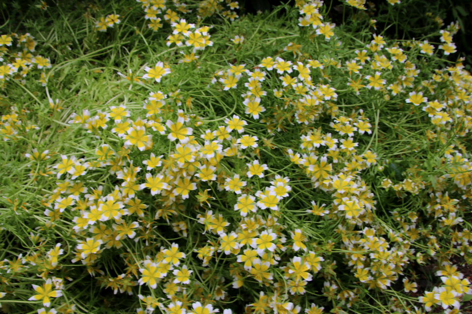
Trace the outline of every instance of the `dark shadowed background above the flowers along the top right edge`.
{"type": "MultiPolygon", "coordinates": [[[[275,6],[288,3],[295,5],[295,0],[242,0],[239,1],[241,8],[247,13],[256,14],[258,10],[270,11],[275,6]],[[243,5],[241,5],[243,4],[243,5]]],[[[448,56],[449,60],[455,61],[458,57],[466,58],[464,65],[466,69],[471,71],[472,66],[472,0],[401,0],[400,4],[391,5],[386,0],[366,1],[366,7],[374,5],[375,9],[369,9],[372,19],[377,20],[377,29],[381,32],[386,26],[396,23],[392,15],[388,15],[388,9],[398,10],[398,17],[401,18],[398,27],[389,27],[385,34],[389,39],[413,39],[421,37],[425,34],[438,32],[450,25],[451,22],[459,22],[461,29],[454,35],[453,41],[457,46],[457,52],[448,56]],[[431,19],[426,17],[426,13],[431,12],[435,16],[440,16],[444,21],[441,28],[431,19]]],[[[346,5],[340,0],[324,0],[324,5],[330,7],[328,17],[336,24],[349,24],[352,14],[358,13],[360,10],[346,5]],[[343,12],[346,11],[346,12],[343,12]]],[[[244,12],[241,12],[244,13],[244,12]]],[[[395,14],[393,14],[395,15],[395,14]]],[[[432,40],[430,40],[432,41],[432,40]]],[[[439,42],[439,37],[437,38],[439,42]]]]}

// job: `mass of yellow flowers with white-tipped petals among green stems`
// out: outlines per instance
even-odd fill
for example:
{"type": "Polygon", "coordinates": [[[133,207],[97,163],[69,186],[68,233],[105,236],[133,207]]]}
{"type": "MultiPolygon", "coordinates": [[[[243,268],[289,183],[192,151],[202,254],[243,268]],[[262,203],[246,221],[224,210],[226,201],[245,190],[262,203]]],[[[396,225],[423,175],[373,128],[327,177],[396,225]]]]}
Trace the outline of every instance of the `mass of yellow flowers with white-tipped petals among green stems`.
{"type": "MultiPolygon", "coordinates": [[[[0,262],[0,269],[41,278],[28,299],[41,301],[38,314],[76,311],[62,302],[65,280],[74,280],[62,270],[81,265],[101,287],[136,294],[140,314],[217,313],[242,287],[254,292],[246,295],[254,299],[245,304],[247,313],[321,314],[320,304],[331,301],[339,309],[355,308],[371,290],[391,311],[421,313],[422,304],[425,311],[458,312],[461,297],[472,294],[452,262],[453,255],[472,253],[465,219],[472,199],[472,76],[462,60],[434,71],[425,65],[434,54],[455,52],[456,24],[438,34],[441,45],[400,44],[375,33],[365,43],[343,42],[347,37],[322,15],[323,1],[297,0],[305,41],[285,42],[257,62],[231,58],[212,74],[198,72],[198,88],[233,102],[231,112],[211,119],[199,109],[211,106],[205,95],[187,93],[180,82],[187,70],[199,69],[197,59],[205,59],[221,36],[202,21],[213,15],[235,21],[238,3],[201,1],[193,24],[183,2],[139,2],[149,28],[169,23],[165,43],[181,48],[183,58],[148,62],[137,71],[141,77],[118,73],[116,83],[133,90],[138,102],[125,98],[67,115],[65,126],[97,139],[92,150],[65,154],[38,147],[25,155],[31,182],[47,178],[54,189],[41,194],[41,226],[25,239],[32,249],[0,262]],[[310,54],[315,45],[323,48],[310,54]],[[441,157],[413,160],[400,170],[395,156],[422,148],[383,155],[382,145],[408,139],[395,133],[398,140],[384,142],[381,128],[402,124],[384,119],[381,126],[380,115],[405,108],[411,116],[403,119],[415,121],[405,133],[425,130],[430,144],[424,145],[441,157]],[[420,130],[418,124],[428,126],[420,130]],[[295,138],[285,140],[290,131],[295,138]],[[277,150],[281,157],[272,154],[277,150]],[[403,206],[385,215],[392,208],[385,209],[382,196],[403,206]],[[414,206],[417,211],[410,210],[414,206]],[[329,238],[317,224],[329,228],[329,238]],[[68,240],[45,237],[57,230],[68,240]],[[123,262],[113,272],[104,262],[111,252],[123,262]],[[435,265],[441,284],[417,297],[411,266],[426,263],[435,265]],[[398,283],[402,288],[395,290],[398,283]]],[[[365,1],[347,3],[365,9],[365,1]]],[[[110,14],[95,27],[106,31],[120,22],[110,14]]],[[[237,51],[250,41],[244,35],[224,36],[237,51]]],[[[1,35],[0,45],[2,87],[10,78],[24,84],[29,71],[46,85],[51,64],[30,53],[32,36],[1,35]],[[14,39],[18,52],[11,48],[14,39]]],[[[53,112],[63,109],[49,92],[47,101],[53,112]]],[[[11,106],[1,116],[5,141],[39,130],[28,113],[11,106]]],[[[7,200],[15,213],[34,210],[7,200]]],[[[1,278],[8,284],[12,277],[1,278]]],[[[5,288],[1,297],[13,294],[5,288]]]]}

